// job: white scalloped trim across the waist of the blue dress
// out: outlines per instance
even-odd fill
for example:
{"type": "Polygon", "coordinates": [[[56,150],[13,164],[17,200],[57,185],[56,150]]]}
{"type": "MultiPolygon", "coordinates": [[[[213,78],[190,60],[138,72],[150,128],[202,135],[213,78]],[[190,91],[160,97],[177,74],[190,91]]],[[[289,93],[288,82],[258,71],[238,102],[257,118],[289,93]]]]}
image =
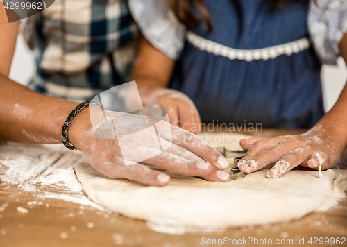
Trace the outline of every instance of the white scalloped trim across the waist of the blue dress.
{"type": "Polygon", "coordinates": [[[310,41],[307,37],[277,46],[252,50],[233,49],[223,44],[206,40],[192,31],[187,31],[186,38],[190,44],[201,51],[207,51],[216,56],[229,58],[230,60],[245,60],[246,62],[251,62],[252,60],[269,60],[281,55],[291,56],[294,53],[299,53],[310,48],[310,41]]]}

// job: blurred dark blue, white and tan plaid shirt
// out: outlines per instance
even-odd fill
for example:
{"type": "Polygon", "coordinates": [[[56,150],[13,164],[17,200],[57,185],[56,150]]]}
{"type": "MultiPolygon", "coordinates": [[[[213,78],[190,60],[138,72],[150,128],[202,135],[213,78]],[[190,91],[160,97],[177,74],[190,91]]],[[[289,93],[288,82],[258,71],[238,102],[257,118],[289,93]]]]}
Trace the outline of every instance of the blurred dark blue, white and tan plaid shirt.
{"type": "Polygon", "coordinates": [[[38,44],[37,92],[83,101],[128,80],[138,28],[126,0],[56,0],[25,30],[38,44]]]}

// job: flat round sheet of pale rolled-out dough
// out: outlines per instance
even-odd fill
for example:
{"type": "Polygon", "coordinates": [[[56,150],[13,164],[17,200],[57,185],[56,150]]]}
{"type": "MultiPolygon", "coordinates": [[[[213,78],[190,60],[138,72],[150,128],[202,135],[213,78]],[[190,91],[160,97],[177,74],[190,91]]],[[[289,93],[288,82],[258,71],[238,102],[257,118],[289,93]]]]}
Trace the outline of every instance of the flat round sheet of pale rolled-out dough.
{"type": "Polygon", "coordinates": [[[153,187],[112,179],[81,163],[75,167],[89,198],[133,219],[186,228],[223,228],[278,223],[314,212],[331,194],[335,173],[290,171],[278,179],[266,171],[226,183],[169,173],[171,182],[153,187]]]}

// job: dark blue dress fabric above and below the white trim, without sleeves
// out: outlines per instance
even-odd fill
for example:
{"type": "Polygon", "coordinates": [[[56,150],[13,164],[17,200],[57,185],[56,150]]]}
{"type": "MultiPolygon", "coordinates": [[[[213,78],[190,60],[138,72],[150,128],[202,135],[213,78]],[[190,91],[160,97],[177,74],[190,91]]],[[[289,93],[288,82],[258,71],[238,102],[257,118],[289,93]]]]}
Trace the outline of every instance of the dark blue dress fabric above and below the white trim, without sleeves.
{"type": "MultiPolygon", "coordinates": [[[[192,32],[234,49],[262,49],[308,36],[307,3],[275,6],[269,0],[205,0],[214,24],[192,32]]],[[[321,63],[314,50],[269,60],[230,60],[189,42],[170,87],[187,94],[203,122],[262,123],[310,128],[323,117],[321,63]]]]}

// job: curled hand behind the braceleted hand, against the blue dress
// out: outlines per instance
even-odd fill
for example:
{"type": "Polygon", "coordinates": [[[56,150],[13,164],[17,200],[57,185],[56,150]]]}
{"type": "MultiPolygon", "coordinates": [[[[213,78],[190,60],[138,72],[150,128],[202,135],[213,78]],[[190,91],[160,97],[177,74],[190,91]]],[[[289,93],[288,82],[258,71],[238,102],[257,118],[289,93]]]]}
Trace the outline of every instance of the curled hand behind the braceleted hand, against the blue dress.
{"type": "Polygon", "coordinates": [[[148,97],[146,106],[159,106],[167,110],[169,121],[193,134],[200,131],[200,115],[193,101],[182,92],[163,87],[151,87],[141,95],[148,97]],[[148,96],[147,96],[148,95],[148,96]]]}

